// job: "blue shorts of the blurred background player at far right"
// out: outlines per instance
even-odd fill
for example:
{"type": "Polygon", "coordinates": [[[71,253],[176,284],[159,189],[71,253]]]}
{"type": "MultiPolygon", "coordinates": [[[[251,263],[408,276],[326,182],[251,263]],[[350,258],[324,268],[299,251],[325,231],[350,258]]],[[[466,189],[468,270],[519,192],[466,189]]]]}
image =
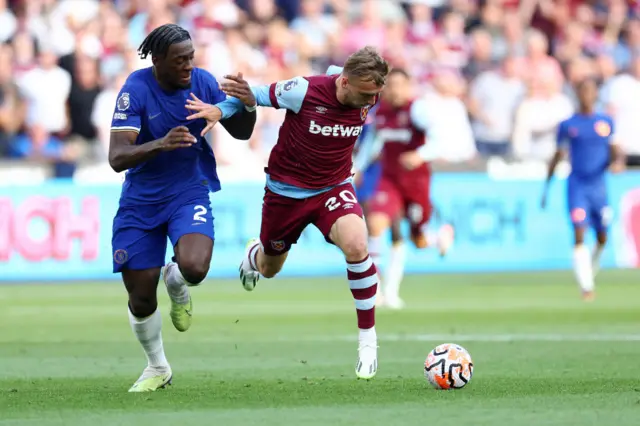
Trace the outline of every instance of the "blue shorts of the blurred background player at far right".
{"type": "Polygon", "coordinates": [[[607,202],[607,188],[604,179],[583,182],[569,178],[567,201],[571,223],[576,228],[593,227],[596,232],[606,232],[613,210],[607,202]]]}

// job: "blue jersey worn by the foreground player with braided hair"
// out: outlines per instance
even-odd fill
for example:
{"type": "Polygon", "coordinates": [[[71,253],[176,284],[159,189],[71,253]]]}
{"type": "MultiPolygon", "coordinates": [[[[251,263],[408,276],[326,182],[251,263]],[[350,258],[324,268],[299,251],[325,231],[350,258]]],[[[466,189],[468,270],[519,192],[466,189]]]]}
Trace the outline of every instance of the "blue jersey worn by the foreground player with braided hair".
{"type": "Polygon", "coordinates": [[[135,71],[127,78],[118,94],[112,132],[138,132],[136,144],[144,144],[164,137],[174,127],[186,126],[198,142],[189,148],[161,152],[129,169],[121,205],[161,203],[203,185],[213,192],[220,189],[213,151],[200,136],[206,122],[187,120],[191,112],[185,105],[192,92],[209,104],[226,98],[215,77],[199,68],[193,69],[189,89],[171,92],[160,87],[152,68],[135,71]]]}

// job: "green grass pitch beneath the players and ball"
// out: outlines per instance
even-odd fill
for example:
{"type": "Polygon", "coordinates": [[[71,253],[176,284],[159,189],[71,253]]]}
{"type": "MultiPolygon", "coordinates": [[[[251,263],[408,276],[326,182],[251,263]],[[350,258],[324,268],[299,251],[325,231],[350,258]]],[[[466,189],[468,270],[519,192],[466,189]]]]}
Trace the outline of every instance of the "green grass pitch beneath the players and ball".
{"type": "Polygon", "coordinates": [[[593,303],[569,272],[410,276],[403,296],[367,382],[345,279],[207,282],[186,333],[160,288],[173,386],[129,394],[145,360],[121,285],[0,286],[0,425],[640,424],[638,271],[603,271],[593,303]],[[462,390],[424,379],[445,342],[473,357],[462,390]]]}

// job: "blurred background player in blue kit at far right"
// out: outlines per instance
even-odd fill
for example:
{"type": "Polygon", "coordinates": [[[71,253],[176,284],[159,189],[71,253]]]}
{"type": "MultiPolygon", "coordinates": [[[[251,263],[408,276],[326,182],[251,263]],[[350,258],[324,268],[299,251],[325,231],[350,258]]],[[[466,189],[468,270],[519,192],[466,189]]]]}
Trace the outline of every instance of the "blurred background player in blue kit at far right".
{"type": "Polygon", "coordinates": [[[620,149],[613,143],[613,120],[605,114],[595,113],[598,86],[594,80],[578,85],[580,111],[558,127],[558,150],[549,164],[549,172],[542,197],[546,205],[551,178],[560,160],[568,153],[571,174],[567,180],[567,202],[575,232],[574,272],[585,300],[594,297],[594,276],[600,255],[607,242],[607,226],[612,210],[607,203],[605,174],[623,169],[620,149]],[[590,252],[584,244],[585,229],[596,231],[597,244],[590,252]]]}

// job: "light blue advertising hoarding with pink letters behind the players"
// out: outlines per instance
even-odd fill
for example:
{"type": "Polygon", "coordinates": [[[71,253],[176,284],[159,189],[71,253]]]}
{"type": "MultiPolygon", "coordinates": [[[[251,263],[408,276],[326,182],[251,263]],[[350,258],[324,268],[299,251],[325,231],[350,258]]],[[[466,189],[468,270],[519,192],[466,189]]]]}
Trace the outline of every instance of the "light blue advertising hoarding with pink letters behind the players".
{"type": "MultiPolygon", "coordinates": [[[[611,176],[615,216],[604,267],[637,267],[640,173],[611,176]]],[[[565,182],[556,181],[548,207],[542,182],[492,180],[483,174],[440,174],[433,180],[432,226],[452,223],[456,240],[441,259],[435,250],[408,252],[410,273],[569,268],[572,232],[565,182]]],[[[111,273],[111,223],[119,185],[51,181],[0,187],[0,280],[103,280],[111,273]]],[[[226,184],[212,194],[216,243],[210,277],[235,277],[247,240],[259,234],[263,186],[226,184]]],[[[172,253],[167,253],[167,258],[172,253]]],[[[310,226],[282,275],[343,274],[340,252],[310,226]]]]}

